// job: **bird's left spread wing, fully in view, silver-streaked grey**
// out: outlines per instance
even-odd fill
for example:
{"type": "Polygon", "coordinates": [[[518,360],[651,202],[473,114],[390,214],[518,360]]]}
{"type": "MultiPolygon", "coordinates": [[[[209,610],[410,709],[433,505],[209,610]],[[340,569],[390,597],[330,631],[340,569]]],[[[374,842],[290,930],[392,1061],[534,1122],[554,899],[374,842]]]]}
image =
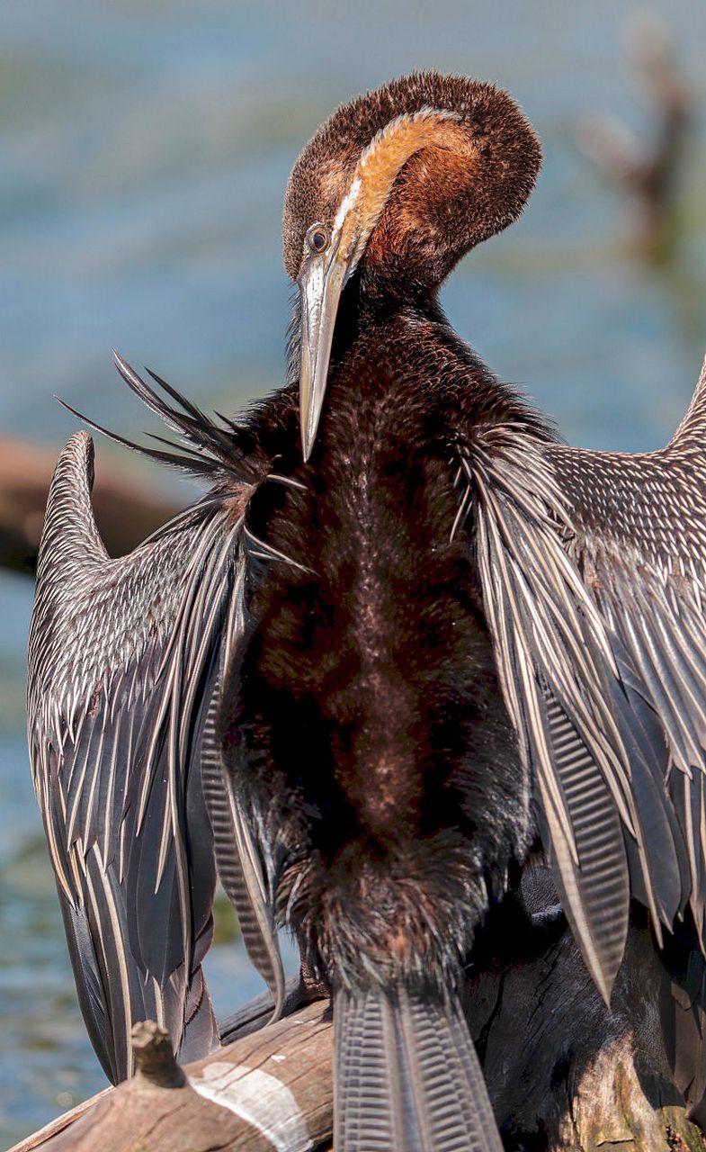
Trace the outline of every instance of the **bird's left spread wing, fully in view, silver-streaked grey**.
{"type": "MultiPolygon", "coordinates": [[[[200,414],[167,408],[119,367],[173,427],[197,439],[200,414]]],[[[205,430],[204,418],[202,440],[205,430]]],[[[29,744],[82,1011],[116,1082],[131,1071],[137,1020],[165,1024],[183,1060],[218,1044],[200,968],[212,935],[214,850],[275,1000],[282,978],[261,862],[215,741],[220,670],[243,615],[238,499],[244,508],[248,486],[206,497],[112,560],[93,521],[91,483],[92,444],[79,432],[47,503],[29,744]]]]}

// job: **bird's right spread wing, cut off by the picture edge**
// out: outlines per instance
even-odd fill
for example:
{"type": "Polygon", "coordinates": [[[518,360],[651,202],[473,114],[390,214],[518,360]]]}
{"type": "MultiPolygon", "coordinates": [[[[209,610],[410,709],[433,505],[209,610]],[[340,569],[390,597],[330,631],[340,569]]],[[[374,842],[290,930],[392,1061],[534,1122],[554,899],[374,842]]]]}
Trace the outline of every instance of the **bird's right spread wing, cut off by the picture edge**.
{"type": "Polygon", "coordinates": [[[661,452],[585,452],[495,425],[461,460],[503,694],[606,999],[630,895],[659,942],[689,908],[704,946],[705,392],[703,373],[661,452]]]}

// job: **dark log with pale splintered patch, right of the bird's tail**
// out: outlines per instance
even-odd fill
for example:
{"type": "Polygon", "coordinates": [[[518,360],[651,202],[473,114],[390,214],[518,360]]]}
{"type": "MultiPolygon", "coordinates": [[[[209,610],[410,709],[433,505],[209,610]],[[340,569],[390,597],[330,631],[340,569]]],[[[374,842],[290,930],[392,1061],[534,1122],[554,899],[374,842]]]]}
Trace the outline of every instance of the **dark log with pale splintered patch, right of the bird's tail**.
{"type": "Polygon", "coordinates": [[[610,1009],[568,929],[469,983],[469,1025],[507,1152],[704,1152],[656,1006],[668,983],[631,927],[610,1009]]]}

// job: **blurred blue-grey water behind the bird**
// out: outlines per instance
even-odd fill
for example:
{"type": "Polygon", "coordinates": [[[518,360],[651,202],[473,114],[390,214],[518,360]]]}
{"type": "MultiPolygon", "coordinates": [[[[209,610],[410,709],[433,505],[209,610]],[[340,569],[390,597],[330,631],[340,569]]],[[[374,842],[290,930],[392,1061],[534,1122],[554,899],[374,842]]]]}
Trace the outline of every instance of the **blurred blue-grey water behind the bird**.
{"type": "MultiPolygon", "coordinates": [[[[577,144],[586,116],[610,113],[638,151],[656,146],[620,0],[2,0],[1,431],[58,452],[76,422],[54,393],[128,435],[157,431],[112,346],[222,411],[276,387],[281,202],[298,149],[340,101],[438,68],[509,88],[546,157],[521,221],[446,287],[453,323],[570,442],[663,444],[706,346],[706,6],[648,10],[668,23],[691,116],[667,240],[643,235],[640,250],[639,203],[577,144]]],[[[191,498],[127,455],[101,442],[98,469],[113,461],[145,491],[191,498]]],[[[31,596],[31,577],[0,573],[2,1146],[105,1083],[26,764],[31,596]]],[[[222,1011],[258,991],[233,934],[223,919],[208,965],[222,1011]]]]}

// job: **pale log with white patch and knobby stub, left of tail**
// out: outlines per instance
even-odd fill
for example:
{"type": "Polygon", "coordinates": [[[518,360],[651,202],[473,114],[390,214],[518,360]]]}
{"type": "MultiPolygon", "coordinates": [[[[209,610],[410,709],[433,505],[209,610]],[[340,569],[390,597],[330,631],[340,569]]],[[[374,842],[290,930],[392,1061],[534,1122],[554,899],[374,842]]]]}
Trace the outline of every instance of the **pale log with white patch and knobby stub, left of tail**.
{"type": "MultiPolygon", "coordinates": [[[[132,1079],[74,1109],[13,1152],[304,1152],[331,1140],[333,1028],[308,1005],[183,1070],[165,1033],[138,1025],[132,1079]]],[[[134,1041],[135,1043],[135,1041],[134,1041]]]]}

